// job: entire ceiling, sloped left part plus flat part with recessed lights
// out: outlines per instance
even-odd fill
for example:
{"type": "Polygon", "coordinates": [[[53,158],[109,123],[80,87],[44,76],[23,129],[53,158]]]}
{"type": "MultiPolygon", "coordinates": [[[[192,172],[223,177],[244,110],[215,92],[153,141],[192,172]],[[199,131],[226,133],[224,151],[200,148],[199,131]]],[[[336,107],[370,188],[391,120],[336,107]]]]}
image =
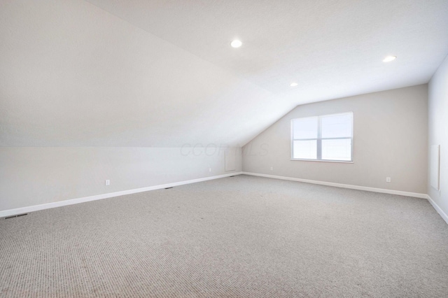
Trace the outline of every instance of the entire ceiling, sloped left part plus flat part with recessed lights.
{"type": "Polygon", "coordinates": [[[427,83],[447,15],[446,0],[1,1],[0,146],[242,146],[297,104],[427,83]]]}

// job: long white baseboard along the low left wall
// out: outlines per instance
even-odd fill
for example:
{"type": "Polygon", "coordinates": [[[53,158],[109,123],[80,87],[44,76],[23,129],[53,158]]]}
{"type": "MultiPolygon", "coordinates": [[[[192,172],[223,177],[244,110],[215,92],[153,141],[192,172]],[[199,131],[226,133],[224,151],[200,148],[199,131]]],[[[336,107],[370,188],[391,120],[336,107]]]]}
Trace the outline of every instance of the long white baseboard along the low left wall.
{"type": "Polygon", "coordinates": [[[90,197],[82,197],[82,198],[78,198],[78,199],[67,199],[64,201],[55,201],[55,202],[47,203],[47,204],[3,210],[3,211],[0,211],[0,218],[4,218],[6,216],[22,214],[22,213],[28,213],[28,212],[32,212],[32,211],[43,210],[43,209],[79,204],[79,203],[84,203],[86,201],[95,201],[97,199],[107,199],[107,198],[111,198],[111,197],[119,197],[119,196],[123,196],[125,194],[135,194],[137,192],[148,192],[149,190],[160,190],[162,188],[167,188],[167,187],[174,187],[174,186],[185,185],[185,184],[190,184],[190,183],[197,183],[197,182],[202,182],[202,181],[207,181],[207,180],[214,180],[214,179],[225,178],[225,177],[229,177],[229,176],[237,176],[237,175],[241,175],[241,173],[242,172],[226,173],[226,174],[219,175],[219,176],[198,178],[198,179],[186,180],[186,181],[181,181],[181,182],[174,182],[174,183],[167,183],[167,184],[162,184],[162,185],[154,185],[154,186],[149,186],[149,187],[136,188],[134,190],[123,190],[120,192],[110,192],[108,194],[97,194],[97,195],[90,196],[90,197]]]}

